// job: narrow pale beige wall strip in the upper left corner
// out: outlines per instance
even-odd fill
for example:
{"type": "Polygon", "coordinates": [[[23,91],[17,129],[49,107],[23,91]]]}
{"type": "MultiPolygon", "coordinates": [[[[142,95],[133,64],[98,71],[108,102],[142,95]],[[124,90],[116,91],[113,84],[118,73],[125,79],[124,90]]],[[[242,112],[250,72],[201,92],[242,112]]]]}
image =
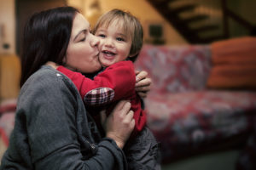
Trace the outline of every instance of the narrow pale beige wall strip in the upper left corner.
{"type": "Polygon", "coordinates": [[[15,54],[15,0],[0,0],[0,54],[15,54]],[[3,48],[3,44],[9,48],[3,48]]]}

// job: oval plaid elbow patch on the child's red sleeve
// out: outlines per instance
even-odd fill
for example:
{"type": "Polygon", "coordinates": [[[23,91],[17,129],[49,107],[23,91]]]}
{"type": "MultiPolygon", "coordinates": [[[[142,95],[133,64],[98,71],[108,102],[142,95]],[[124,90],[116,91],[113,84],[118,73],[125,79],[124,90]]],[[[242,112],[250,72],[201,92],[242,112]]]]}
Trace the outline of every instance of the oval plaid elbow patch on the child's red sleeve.
{"type": "Polygon", "coordinates": [[[112,88],[95,88],[84,96],[85,105],[106,105],[113,100],[112,88]]]}

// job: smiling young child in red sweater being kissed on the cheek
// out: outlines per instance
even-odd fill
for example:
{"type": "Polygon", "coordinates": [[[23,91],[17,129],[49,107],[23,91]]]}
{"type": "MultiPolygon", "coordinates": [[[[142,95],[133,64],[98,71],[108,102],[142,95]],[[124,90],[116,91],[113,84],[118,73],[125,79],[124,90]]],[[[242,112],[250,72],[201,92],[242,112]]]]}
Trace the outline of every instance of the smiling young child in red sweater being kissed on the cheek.
{"type": "Polygon", "coordinates": [[[146,114],[135,91],[135,61],[143,46],[143,27],[136,17],[113,9],[96,23],[93,33],[100,37],[99,60],[103,71],[93,80],[63,66],[58,71],[69,77],[84,99],[86,106],[111,106],[119,99],[129,99],[134,111],[135,128],[125,145],[129,169],[160,169],[158,143],[146,125],[146,114]]]}

